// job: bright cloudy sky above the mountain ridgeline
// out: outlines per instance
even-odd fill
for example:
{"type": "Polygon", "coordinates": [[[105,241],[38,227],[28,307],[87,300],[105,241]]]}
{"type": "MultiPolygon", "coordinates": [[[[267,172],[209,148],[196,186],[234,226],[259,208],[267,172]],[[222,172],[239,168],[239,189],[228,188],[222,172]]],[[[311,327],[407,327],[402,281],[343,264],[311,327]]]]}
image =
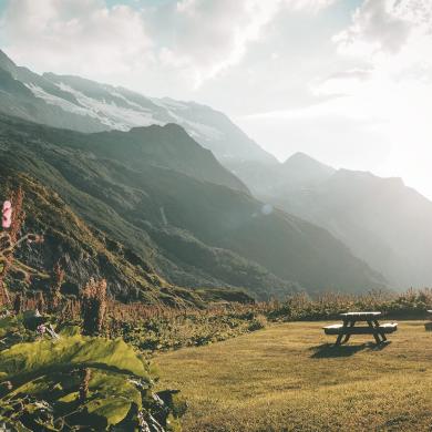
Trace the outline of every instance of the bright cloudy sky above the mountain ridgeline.
{"type": "Polygon", "coordinates": [[[432,0],[0,0],[0,44],[432,197],[432,0]]]}

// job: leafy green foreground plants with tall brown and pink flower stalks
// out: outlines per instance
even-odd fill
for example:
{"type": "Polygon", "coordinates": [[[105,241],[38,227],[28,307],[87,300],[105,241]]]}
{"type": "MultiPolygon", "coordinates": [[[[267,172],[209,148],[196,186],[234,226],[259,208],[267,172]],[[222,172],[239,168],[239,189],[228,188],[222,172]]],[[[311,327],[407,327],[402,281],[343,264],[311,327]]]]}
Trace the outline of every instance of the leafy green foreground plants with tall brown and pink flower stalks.
{"type": "Polygon", "coordinates": [[[152,391],[155,374],[122,338],[104,338],[106,280],[90,279],[81,290],[80,326],[71,326],[61,294],[64,271],[53,268],[48,292],[37,292],[33,310],[24,292],[13,301],[4,285],[9,270],[25,268],[14,253],[22,236],[23,194],[2,206],[0,230],[0,429],[7,431],[179,430],[185,411],[177,391],[152,391]],[[13,315],[10,311],[13,305],[13,315]],[[22,312],[24,310],[24,312],[22,312]],[[41,316],[49,310],[52,317],[41,316]],[[55,328],[55,329],[54,329],[55,328]],[[177,403],[178,402],[178,403],[177,403]]]}

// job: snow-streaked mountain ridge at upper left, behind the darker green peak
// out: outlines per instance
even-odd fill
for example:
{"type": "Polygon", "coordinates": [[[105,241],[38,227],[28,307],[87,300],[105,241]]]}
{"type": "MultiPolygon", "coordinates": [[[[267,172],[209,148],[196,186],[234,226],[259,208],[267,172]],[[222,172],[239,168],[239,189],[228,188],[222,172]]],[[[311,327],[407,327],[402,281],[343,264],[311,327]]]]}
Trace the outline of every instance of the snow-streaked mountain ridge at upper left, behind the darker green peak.
{"type": "Polygon", "coordinates": [[[146,97],[79,76],[39,75],[17,66],[0,51],[0,112],[80,132],[128,131],[176,123],[220,161],[276,158],[259,147],[225,114],[195,102],[146,97]]]}

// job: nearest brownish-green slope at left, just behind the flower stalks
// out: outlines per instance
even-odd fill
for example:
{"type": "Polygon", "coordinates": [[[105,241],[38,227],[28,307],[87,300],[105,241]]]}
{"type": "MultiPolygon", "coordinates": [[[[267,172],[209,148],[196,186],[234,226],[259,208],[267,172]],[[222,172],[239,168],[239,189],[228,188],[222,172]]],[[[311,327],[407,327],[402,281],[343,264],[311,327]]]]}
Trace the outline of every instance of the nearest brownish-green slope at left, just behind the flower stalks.
{"type": "MultiPolygon", "coordinates": [[[[136,256],[131,249],[113,240],[100,230],[91,229],[52,189],[43,186],[28,175],[0,168],[0,196],[6,187],[22,187],[27,232],[43,233],[44,241],[24,245],[19,255],[37,269],[50,274],[56,263],[66,271],[63,290],[76,295],[79,287],[90,278],[106,278],[110,292],[126,301],[164,302],[167,305],[199,305],[202,300],[194,292],[174,287],[158,277],[151,265],[136,256]]],[[[17,289],[16,279],[8,285],[17,289]]],[[[47,290],[47,280],[37,286],[47,290]]],[[[22,288],[25,282],[21,282],[22,288]]]]}

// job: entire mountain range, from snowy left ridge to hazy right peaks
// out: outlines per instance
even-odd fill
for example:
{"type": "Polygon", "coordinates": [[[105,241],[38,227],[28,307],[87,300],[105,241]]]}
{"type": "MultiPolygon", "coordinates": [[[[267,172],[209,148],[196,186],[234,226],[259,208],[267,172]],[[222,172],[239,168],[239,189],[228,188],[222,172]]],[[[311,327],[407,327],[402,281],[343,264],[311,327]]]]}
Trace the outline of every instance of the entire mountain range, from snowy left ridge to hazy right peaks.
{"type": "Polygon", "coordinates": [[[39,75],[2,52],[1,112],[3,183],[22,178],[70,215],[54,232],[40,213],[29,224],[51,233],[37,260],[61,251],[72,291],[91,272],[124,299],[165,302],[197,301],[203,287],[268,299],[432,279],[432,204],[400,181],[301,153],[280,164],[208,106],[39,75]],[[72,219],[89,238],[61,235],[72,219]]]}

